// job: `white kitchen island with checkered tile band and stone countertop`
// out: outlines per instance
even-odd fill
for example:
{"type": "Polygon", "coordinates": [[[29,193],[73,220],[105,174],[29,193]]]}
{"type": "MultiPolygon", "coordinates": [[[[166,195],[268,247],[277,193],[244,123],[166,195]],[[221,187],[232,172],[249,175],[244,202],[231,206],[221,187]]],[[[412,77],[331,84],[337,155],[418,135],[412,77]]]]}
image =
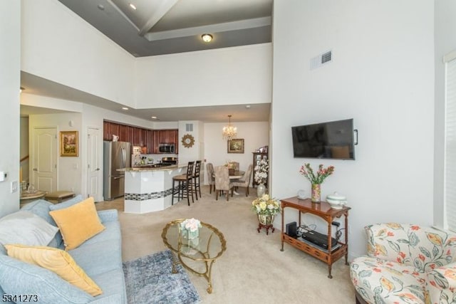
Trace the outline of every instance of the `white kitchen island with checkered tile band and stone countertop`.
{"type": "Polygon", "coordinates": [[[125,213],[143,214],[171,206],[172,177],[185,174],[185,166],[133,167],[125,171],[125,213]]]}

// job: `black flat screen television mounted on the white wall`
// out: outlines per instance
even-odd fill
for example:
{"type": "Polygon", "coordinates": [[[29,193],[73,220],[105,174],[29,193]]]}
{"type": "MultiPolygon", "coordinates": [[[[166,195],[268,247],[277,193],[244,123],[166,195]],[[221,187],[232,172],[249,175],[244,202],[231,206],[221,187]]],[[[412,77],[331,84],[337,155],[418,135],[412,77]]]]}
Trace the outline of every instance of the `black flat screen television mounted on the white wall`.
{"type": "Polygon", "coordinates": [[[294,157],[355,159],[353,119],[291,127],[294,157]]]}

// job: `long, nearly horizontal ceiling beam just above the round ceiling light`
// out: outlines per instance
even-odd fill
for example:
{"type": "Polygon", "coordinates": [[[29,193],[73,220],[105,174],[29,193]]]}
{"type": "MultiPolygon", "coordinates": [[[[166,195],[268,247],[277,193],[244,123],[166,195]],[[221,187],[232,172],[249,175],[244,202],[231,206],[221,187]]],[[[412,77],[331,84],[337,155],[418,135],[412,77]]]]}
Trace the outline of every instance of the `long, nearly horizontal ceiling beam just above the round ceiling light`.
{"type": "Polygon", "coordinates": [[[225,23],[210,24],[207,26],[195,26],[192,28],[180,28],[172,31],[160,31],[155,33],[146,33],[145,38],[148,41],[180,38],[203,33],[217,33],[222,31],[236,31],[244,28],[257,28],[261,26],[270,26],[271,17],[261,17],[255,19],[247,19],[241,21],[232,21],[225,23]]]}

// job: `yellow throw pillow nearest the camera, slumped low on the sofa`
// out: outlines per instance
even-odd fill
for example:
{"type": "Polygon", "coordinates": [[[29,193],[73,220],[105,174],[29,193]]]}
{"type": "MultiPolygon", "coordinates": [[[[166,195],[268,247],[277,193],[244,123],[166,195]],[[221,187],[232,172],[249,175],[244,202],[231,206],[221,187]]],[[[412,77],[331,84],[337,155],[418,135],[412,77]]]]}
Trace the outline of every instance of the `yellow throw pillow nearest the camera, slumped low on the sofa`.
{"type": "Polygon", "coordinates": [[[17,258],[19,261],[53,271],[63,280],[81,288],[86,293],[90,293],[90,295],[95,296],[103,293],[103,290],[87,276],[66,251],[46,246],[24,246],[18,244],[5,245],[5,248],[11,258],[17,258]]]}

